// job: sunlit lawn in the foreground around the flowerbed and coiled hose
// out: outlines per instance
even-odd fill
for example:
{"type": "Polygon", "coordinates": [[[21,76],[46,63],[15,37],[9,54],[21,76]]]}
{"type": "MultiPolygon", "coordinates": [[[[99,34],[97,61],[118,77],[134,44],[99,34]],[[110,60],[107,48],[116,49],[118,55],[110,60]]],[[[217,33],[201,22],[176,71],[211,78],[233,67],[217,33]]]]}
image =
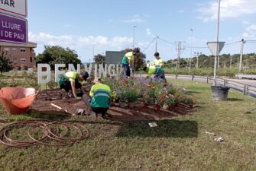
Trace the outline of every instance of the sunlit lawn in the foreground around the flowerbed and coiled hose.
{"type": "MultiPolygon", "coordinates": [[[[157,128],[149,128],[150,121],[11,116],[9,122],[41,117],[80,122],[90,136],[66,147],[0,145],[0,170],[256,170],[256,112],[245,114],[255,107],[254,99],[230,90],[228,101],[216,102],[209,84],[172,82],[186,86],[199,107],[192,116],[157,121],[157,128]],[[213,141],[206,130],[225,141],[213,141]]],[[[2,127],[7,122],[2,109],[0,116],[2,127]]]]}

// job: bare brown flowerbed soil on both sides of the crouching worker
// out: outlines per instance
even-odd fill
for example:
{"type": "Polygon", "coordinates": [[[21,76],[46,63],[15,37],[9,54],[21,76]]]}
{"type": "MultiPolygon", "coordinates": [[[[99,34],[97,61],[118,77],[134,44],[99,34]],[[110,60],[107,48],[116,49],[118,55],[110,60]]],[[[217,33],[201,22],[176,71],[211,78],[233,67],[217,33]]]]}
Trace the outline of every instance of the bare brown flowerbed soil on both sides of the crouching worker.
{"type": "MultiPolygon", "coordinates": [[[[60,97],[60,90],[44,90],[38,93],[37,99],[34,100],[31,109],[44,114],[68,114],[73,115],[76,113],[76,109],[85,109],[86,113],[89,114],[89,110],[83,100],[70,99],[58,99],[60,97]],[[53,100],[46,100],[46,98],[51,98],[53,100]],[[63,108],[63,110],[57,109],[51,106],[53,103],[57,106],[63,108]],[[66,113],[66,112],[67,113],[66,113]]],[[[161,120],[170,119],[173,116],[186,116],[190,115],[194,111],[193,108],[179,104],[174,109],[165,110],[154,109],[154,106],[144,107],[143,103],[136,103],[133,109],[128,106],[125,108],[120,108],[118,103],[111,106],[108,111],[111,120],[117,121],[139,121],[139,120],[161,120]]]]}

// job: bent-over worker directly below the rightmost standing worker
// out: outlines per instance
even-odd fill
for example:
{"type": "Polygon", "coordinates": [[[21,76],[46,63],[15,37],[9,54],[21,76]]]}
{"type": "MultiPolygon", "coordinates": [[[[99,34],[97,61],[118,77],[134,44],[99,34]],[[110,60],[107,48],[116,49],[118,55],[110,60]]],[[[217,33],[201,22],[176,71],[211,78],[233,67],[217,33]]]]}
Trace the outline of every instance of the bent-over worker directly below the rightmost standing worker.
{"type": "Polygon", "coordinates": [[[150,66],[150,67],[144,67],[143,71],[147,72],[148,74],[154,74],[154,80],[155,81],[163,81],[167,82],[167,79],[164,75],[164,68],[156,67],[156,66],[150,66]]]}

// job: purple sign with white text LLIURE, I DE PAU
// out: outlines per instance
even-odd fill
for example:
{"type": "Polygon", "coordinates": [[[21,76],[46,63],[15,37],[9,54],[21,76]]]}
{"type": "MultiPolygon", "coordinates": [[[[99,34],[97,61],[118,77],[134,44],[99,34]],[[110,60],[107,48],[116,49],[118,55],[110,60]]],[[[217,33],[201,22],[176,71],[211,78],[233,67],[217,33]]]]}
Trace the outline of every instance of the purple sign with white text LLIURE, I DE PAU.
{"type": "Polygon", "coordinates": [[[0,13],[0,41],[28,43],[28,21],[0,13]]]}

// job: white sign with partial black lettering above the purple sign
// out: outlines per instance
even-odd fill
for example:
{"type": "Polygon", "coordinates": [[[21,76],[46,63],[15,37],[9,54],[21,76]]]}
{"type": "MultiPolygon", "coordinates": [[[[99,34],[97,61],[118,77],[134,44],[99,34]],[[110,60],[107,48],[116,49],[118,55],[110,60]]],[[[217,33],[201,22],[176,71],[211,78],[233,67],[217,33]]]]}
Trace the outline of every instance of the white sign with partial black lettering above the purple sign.
{"type": "Polygon", "coordinates": [[[18,17],[27,17],[27,0],[0,0],[0,12],[18,17]]]}

